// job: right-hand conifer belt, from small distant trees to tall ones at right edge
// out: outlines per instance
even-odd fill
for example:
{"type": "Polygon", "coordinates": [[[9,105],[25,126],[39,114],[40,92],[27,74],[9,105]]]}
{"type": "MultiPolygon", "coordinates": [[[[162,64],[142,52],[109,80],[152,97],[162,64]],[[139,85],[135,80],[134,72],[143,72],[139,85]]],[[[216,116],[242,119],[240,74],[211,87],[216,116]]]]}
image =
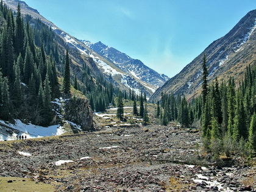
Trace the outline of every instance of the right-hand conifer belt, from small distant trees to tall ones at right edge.
{"type": "MultiPolygon", "coordinates": [[[[255,64],[255,63],[254,63],[255,64]]],[[[185,96],[163,94],[157,103],[157,117],[163,125],[178,121],[182,126],[201,123],[204,148],[218,157],[224,152],[256,151],[256,67],[247,66],[243,82],[218,79],[209,85],[206,59],[202,63],[202,94],[187,102],[185,96]]]]}

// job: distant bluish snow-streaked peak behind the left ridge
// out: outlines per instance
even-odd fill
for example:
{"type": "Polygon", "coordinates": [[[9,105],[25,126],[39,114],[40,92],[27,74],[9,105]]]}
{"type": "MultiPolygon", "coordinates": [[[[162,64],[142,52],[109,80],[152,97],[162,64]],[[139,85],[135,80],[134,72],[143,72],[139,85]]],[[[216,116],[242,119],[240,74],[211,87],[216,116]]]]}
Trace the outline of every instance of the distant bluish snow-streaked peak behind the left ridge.
{"type": "Polygon", "coordinates": [[[109,47],[101,41],[98,43],[91,43],[87,40],[81,40],[81,42],[93,49],[93,51],[97,52],[102,57],[110,60],[110,62],[122,71],[136,77],[137,79],[143,80],[154,87],[162,87],[162,85],[169,80],[169,77],[165,74],[158,74],[153,69],[144,65],[140,60],[132,59],[129,55],[124,54],[115,48],[109,47]]]}

